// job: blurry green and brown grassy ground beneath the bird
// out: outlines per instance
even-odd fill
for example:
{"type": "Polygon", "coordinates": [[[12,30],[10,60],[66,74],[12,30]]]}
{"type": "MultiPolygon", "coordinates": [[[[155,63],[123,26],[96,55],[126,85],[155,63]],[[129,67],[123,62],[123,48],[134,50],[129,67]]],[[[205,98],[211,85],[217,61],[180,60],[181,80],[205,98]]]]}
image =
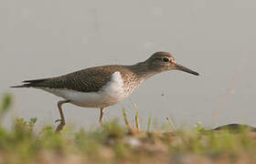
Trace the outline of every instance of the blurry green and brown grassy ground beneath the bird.
{"type": "MultiPolygon", "coordinates": [[[[11,106],[11,97],[3,97],[0,118],[11,106]]],[[[131,127],[123,109],[125,127],[112,120],[89,131],[64,128],[57,134],[52,127],[34,131],[37,118],[16,118],[14,127],[0,126],[0,163],[254,163],[256,133],[247,127],[206,130],[176,129],[171,119],[166,125],[175,132],[151,129],[139,124],[131,127]]]]}

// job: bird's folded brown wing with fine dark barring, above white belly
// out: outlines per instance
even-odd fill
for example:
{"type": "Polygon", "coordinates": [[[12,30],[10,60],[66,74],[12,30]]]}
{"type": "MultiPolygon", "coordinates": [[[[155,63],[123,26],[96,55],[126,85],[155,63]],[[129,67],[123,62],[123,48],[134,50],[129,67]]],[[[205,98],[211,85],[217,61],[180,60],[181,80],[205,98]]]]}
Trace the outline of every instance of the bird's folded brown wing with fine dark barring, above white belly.
{"type": "Polygon", "coordinates": [[[119,66],[90,67],[60,77],[27,80],[27,84],[18,87],[49,87],[67,88],[80,92],[97,92],[106,85],[112,73],[119,70],[119,66]]]}

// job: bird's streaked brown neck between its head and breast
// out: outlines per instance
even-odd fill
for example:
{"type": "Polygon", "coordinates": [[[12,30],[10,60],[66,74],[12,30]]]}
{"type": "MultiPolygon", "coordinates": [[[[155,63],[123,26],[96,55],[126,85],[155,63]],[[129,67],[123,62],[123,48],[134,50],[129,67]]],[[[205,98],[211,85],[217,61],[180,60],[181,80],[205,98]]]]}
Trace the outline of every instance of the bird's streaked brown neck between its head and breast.
{"type": "Polygon", "coordinates": [[[159,73],[158,71],[155,71],[154,69],[148,67],[148,65],[145,62],[137,63],[135,65],[130,66],[129,68],[133,71],[133,73],[136,76],[143,80],[159,73]]]}

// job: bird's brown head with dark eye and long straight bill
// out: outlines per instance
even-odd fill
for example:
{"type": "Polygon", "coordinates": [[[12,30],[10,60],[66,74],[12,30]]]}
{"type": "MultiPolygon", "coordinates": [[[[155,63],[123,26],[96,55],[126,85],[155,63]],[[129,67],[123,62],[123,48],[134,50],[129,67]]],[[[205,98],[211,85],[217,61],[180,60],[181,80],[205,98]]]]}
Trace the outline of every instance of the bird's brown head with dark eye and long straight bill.
{"type": "Polygon", "coordinates": [[[156,52],[145,61],[147,67],[156,72],[164,72],[168,70],[180,70],[198,76],[199,74],[187,67],[183,67],[176,63],[176,59],[170,53],[156,52]]]}

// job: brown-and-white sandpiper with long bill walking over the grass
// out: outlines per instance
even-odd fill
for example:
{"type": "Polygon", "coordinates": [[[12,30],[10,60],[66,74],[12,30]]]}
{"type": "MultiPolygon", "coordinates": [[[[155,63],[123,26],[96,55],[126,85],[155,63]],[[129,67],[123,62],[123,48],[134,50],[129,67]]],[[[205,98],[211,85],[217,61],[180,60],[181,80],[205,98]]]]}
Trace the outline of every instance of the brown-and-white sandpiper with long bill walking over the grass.
{"type": "Polygon", "coordinates": [[[58,102],[60,118],[55,121],[59,122],[56,131],[60,131],[66,125],[63,104],[99,108],[99,122],[102,123],[105,108],[129,97],[149,77],[169,70],[199,76],[196,71],[176,63],[175,57],[170,53],[155,52],[134,65],[89,67],[59,77],[25,80],[22,85],[13,87],[34,87],[62,97],[63,100],[58,102]]]}

